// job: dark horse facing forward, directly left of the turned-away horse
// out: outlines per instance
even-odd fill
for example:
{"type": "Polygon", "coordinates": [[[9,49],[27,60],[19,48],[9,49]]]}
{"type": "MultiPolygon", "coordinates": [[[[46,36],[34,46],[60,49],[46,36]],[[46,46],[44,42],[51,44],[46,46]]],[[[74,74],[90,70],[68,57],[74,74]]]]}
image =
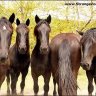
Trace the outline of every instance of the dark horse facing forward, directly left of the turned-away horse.
{"type": "Polygon", "coordinates": [[[49,81],[51,76],[51,66],[49,63],[49,33],[51,31],[51,15],[47,19],[40,19],[35,16],[36,26],[34,35],[36,37],[36,45],[31,54],[31,75],[33,77],[33,90],[37,95],[39,91],[38,77],[44,78],[44,95],[48,95],[49,81]]]}

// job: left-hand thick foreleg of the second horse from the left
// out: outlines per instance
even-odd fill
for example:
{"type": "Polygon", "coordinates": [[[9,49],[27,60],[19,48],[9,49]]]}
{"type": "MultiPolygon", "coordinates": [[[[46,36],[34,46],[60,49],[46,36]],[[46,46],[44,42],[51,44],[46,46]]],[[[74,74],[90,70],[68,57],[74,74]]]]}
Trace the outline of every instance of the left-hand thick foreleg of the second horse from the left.
{"type": "Polygon", "coordinates": [[[18,76],[19,76],[20,72],[12,72],[11,73],[11,90],[12,90],[12,94],[17,94],[16,92],[16,84],[17,84],[17,80],[18,80],[18,76]]]}

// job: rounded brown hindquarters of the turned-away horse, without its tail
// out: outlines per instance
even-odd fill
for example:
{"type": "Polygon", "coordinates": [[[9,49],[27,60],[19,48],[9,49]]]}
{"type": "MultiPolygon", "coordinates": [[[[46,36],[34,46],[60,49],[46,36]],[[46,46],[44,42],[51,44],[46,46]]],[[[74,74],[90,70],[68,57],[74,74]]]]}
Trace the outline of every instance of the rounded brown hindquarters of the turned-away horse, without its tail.
{"type": "MultiPolygon", "coordinates": [[[[70,59],[72,60],[72,69],[78,70],[80,67],[80,39],[81,36],[79,34],[74,33],[61,33],[55,36],[50,43],[50,50],[51,50],[51,65],[52,65],[52,71],[53,74],[56,73],[58,69],[58,51],[59,47],[62,44],[64,40],[67,40],[70,44],[70,59]],[[76,65],[76,63],[78,63],[76,65]],[[76,66],[74,66],[76,65],[76,66]],[[76,68],[75,68],[76,67],[76,68]]],[[[66,51],[66,50],[64,50],[66,51]]]]}

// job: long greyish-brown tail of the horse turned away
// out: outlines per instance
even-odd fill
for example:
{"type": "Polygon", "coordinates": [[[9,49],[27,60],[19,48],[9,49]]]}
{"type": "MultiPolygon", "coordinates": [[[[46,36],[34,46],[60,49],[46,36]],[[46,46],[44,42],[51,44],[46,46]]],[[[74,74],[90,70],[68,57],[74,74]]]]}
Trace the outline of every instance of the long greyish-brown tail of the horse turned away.
{"type": "Polygon", "coordinates": [[[59,87],[62,95],[76,95],[77,82],[72,73],[70,42],[65,39],[59,47],[59,87]]]}

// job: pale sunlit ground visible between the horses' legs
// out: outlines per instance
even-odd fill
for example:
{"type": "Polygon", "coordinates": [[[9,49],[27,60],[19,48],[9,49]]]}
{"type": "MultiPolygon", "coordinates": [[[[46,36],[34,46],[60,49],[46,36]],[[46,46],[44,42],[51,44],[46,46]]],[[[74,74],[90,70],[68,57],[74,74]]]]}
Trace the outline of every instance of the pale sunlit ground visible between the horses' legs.
{"type": "MultiPolygon", "coordinates": [[[[20,81],[21,81],[21,76],[18,79],[17,82],[17,93],[20,93],[20,81]]],[[[26,77],[26,82],[25,82],[25,89],[24,89],[24,95],[33,95],[33,79],[31,77],[31,72],[30,72],[30,68],[29,68],[29,72],[28,75],[26,77]]],[[[39,95],[43,95],[43,78],[42,76],[39,77],[39,95]]],[[[87,92],[87,78],[86,78],[86,74],[85,71],[82,70],[82,68],[80,68],[79,70],[79,75],[78,75],[78,95],[88,95],[87,92]]],[[[7,90],[7,86],[6,86],[6,79],[1,87],[1,91],[0,91],[0,95],[6,95],[6,90],[7,90]]],[[[49,95],[53,94],[53,80],[51,77],[50,80],[50,90],[49,90],[49,95]]],[[[95,95],[95,92],[93,92],[93,95],[95,95]]]]}

